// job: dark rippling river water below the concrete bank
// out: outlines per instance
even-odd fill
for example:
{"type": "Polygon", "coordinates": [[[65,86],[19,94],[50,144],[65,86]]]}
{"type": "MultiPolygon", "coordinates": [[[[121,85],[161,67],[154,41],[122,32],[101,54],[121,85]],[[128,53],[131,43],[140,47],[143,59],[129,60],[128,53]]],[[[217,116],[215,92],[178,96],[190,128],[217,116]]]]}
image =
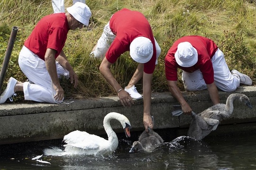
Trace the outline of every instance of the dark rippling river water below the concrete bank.
{"type": "Polygon", "coordinates": [[[137,153],[129,153],[134,139],[118,136],[119,147],[111,158],[42,155],[51,146],[63,149],[61,139],[0,145],[0,170],[256,170],[256,134],[202,141],[186,136],[166,141],[162,136],[165,143],[153,152],[137,153]]]}

